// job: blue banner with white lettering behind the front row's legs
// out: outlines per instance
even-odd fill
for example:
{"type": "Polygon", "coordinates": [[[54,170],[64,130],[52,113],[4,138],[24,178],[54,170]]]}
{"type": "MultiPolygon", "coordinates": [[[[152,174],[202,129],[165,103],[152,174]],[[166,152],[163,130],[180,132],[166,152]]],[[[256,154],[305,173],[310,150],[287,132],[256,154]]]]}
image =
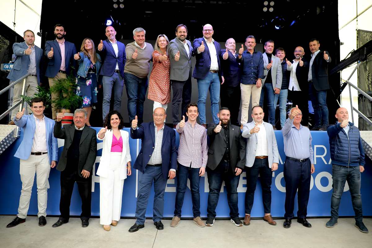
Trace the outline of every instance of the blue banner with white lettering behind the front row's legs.
{"type": "MultiPolygon", "coordinates": [[[[94,128],[96,132],[100,128],[94,128]]],[[[124,130],[129,132],[129,128],[124,130]]],[[[271,213],[274,217],[284,216],[284,201],[285,201],[285,181],[283,178],[283,162],[285,161],[285,154],[283,151],[283,136],[281,131],[275,131],[276,139],[279,148],[279,169],[273,172],[272,175],[272,205],[271,213]]],[[[330,150],[328,143],[327,132],[316,131],[311,132],[312,135],[312,147],[314,149],[314,163],[315,173],[311,175],[310,185],[310,200],[308,204],[308,216],[330,216],[330,202],[332,194],[332,165],[330,160],[330,150]]],[[[0,215],[15,215],[17,214],[19,196],[21,190],[21,181],[19,175],[19,159],[13,157],[17,147],[22,141],[21,137],[16,140],[3,154],[0,155],[0,215]]],[[[94,172],[97,171],[99,166],[99,159],[102,154],[102,141],[97,141],[97,158],[94,165],[94,172]]],[[[176,132],[176,143],[178,145],[179,136],[176,132]]],[[[58,140],[59,154],[62,152],[64,140],[58,140]]],[[[132,164],[134,164],[135,158],[141,148],[141,140],[129,138],[129,146],[131,149],[132,164]]],[[[239,213],[240,216],[244,216],[244,195],[246,192],[246,173],[240,175],[240,181],[238,185],[238,199],[239,199],[239,213]]],[[[372,191],[370,190],[369,182],[372,181],[372,168],[371,160],[366,158],[365,172],[362,173],[362,200],[363,200],[363,215],[372,215],[372,191]]],[[[92,216],[99,216],[99,176],[95,173],[92,176],[92,216]]],[[[50,188],[48,189],[48,215],[60,215],[59,203],[60,203],[60,171],[55,168],[51,169],[49,175],[50,188]]],[[[176,196],[176,179],[168,180],[165,201],[164,201],[164,217],[173,217],[174,212],[174,201],[176,196]]],[[[218,206],[216,209],[217,217],[229,217],[229,207],[227,204],[226,188],[224,184],[221,189],[218,206]]],[[[136,197],[137,197],[137,186],[138,186],[138,174],[137,170],[132,171],[132,175],[124,181],[123,200],[122,200],[122,211],[121,216],[134,216],[136,209],[136,197]]],[[[188,183],[189,187],[189,183],[188,183]]],[[[201,198],[201,216],[206,216],[207,199],[208,199],[208,178],[205,174],[201,177],[200,181],[200,198],[201,198]]],[[[153,209],[153,197],[154,191],[151,190],[151,195],[147,207],[146,216],[152,216],[153,209]]],[[[295,212],[297,211],[297,201],[295,201],[295,212]]],[[[37,192],[36,192],[36,180],[32,189],[31,202],[28,214],[37,215],[37,192]]],[[[349,192],[349,186],[345,185],[344,194],[342,196],[340,204],[340,216],[353,216],[354,211],[351,204],[351,197],[349,192]]],[[[75,184],[73,196],[71,198],[71,215],[80,215],[81,213],[81,200],[77,191],[77,185],[75,184]]],[[[257,183],[256,192],[254,195],[254,204],[251,212],[252,217],[263,216],[263,204],[262,204],[262,190],[260,181],[257,183]]],[[[192,217],[192,202],[191,193],[187,189],[185,194],[185,200],[182,208],[183,217],[192,217]]]]}

